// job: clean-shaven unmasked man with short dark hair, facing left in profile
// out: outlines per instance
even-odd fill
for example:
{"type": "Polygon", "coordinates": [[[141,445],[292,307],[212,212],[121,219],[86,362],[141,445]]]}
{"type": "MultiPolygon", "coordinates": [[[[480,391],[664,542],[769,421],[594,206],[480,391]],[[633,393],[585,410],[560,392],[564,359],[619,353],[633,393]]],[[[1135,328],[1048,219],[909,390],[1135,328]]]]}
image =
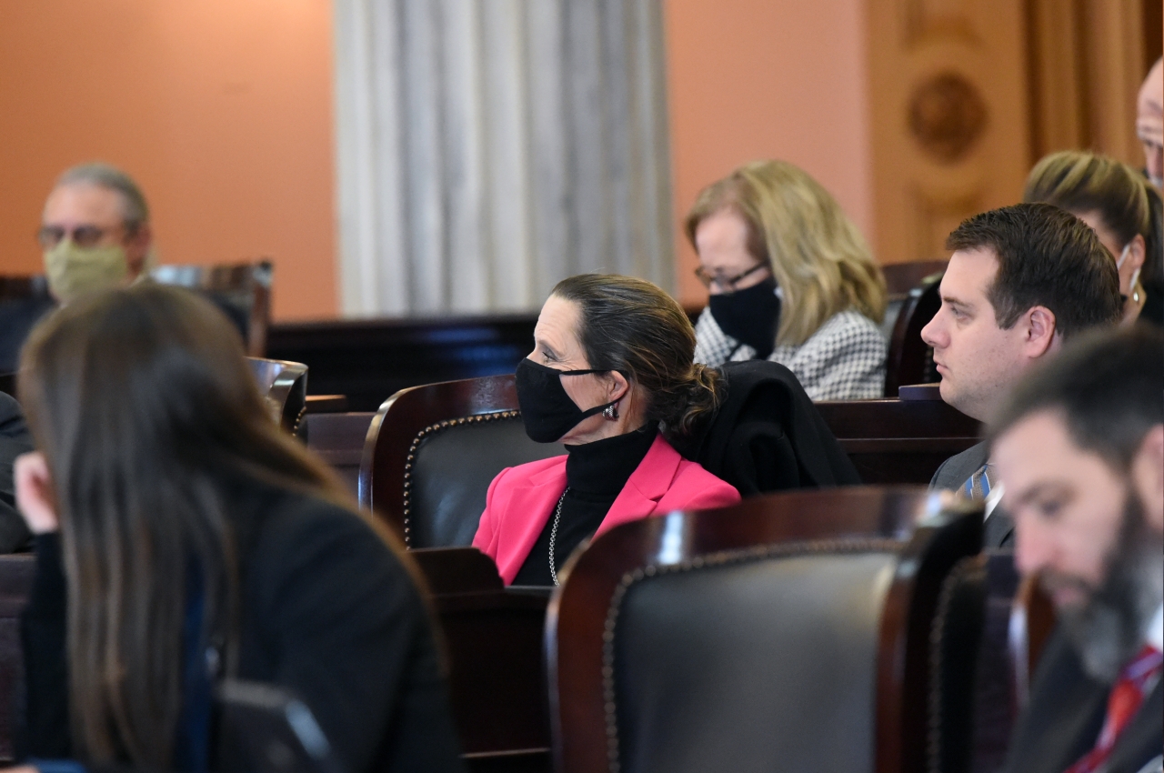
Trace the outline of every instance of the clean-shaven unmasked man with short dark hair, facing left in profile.
{"type": "MultiPolygon", "coordinates": [[[[1080,331],[1120,319],[1115,262],[1095,232],[1046,204],[1018,204],[974,215],[946,240],[942,307],[922,329],[934,347],[942,399],[989,420],[1027,369],[1080,331]]],[[[1006,547],[1013,525],[991,496],[986,445],[947,459],[930,482],[986,499],[985,542],[1006,547]]]]}

